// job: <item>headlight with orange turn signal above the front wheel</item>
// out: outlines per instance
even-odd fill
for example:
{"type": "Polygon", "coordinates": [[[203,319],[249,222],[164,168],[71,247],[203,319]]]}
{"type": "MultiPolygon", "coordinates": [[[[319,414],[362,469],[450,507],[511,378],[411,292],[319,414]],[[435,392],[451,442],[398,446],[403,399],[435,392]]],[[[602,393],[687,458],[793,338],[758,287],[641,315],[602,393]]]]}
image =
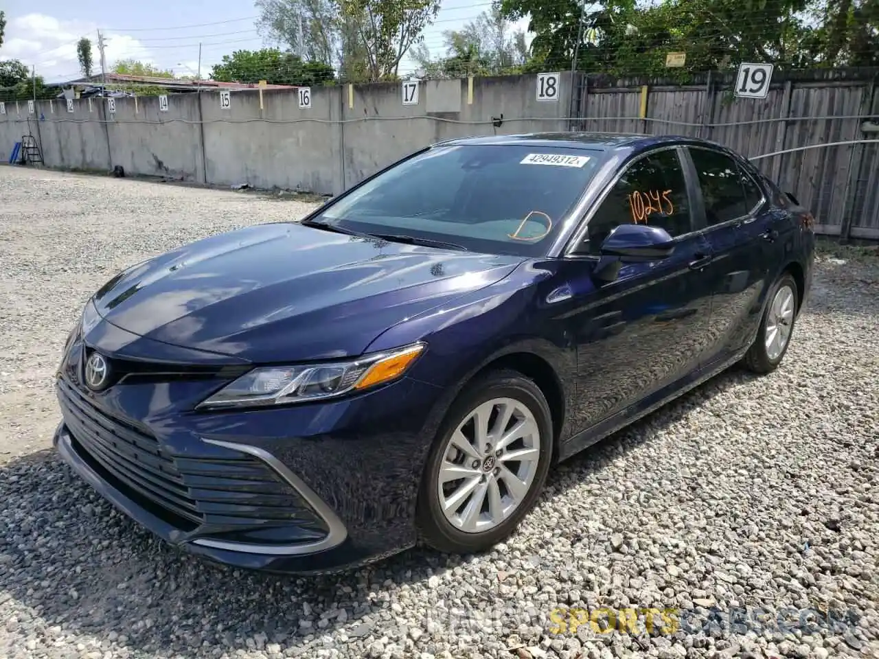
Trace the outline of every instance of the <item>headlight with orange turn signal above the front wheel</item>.
{"type": "Polygon", "coordinates": [[[244,373],[198,409],[280,405],[334,398],[396,380],[425,349],[412,344],[350,361],[303,366],[264,366],[244,373]]]}

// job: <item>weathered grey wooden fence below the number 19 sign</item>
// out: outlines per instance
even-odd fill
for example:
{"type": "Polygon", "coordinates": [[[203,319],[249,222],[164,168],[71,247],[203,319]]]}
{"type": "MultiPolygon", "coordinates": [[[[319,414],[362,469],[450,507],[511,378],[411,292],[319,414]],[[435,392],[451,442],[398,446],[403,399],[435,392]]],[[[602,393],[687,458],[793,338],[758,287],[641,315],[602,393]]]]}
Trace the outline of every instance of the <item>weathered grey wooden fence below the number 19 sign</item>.
{"type": "Polygon", "coordinates": [[[879,69],[776,70],[755,99],[734,96],[735,73],[685,85],[580,74],[571,127],[703,137],[748,157],[787,151],[754,162],[810,208],[818,233],[879,239],[877,78],[879,69]]]}

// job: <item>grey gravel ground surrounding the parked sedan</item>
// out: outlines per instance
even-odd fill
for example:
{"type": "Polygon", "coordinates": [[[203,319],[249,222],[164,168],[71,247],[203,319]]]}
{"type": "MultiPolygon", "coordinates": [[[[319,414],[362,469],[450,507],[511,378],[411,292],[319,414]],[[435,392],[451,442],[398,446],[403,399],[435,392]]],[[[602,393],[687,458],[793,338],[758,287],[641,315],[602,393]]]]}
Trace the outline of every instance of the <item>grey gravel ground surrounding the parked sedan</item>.
{"type": "Polygon", "coordinates": [[[490,554],[295,579],[178,554],[48,446],[94,289],[307,206],[8,167],[0,199],[0,656],[879,656],[879,254],[822,257],[781,369],[724,373],[564,463],[490,554]],[[600,607],[634,629],[570,624],[600,607]],[[672,610],[650,633],[649,608],[672,610]]]}

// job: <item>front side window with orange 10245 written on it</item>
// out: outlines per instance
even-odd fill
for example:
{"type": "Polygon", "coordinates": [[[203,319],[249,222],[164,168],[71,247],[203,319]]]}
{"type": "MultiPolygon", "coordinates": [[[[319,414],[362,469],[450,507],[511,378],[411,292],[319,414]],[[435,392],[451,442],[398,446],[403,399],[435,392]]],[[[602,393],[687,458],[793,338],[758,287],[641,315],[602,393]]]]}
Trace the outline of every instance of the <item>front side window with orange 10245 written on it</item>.
{"type": "Polygon", "coordinates": [[[601,243],[621,224],[650,224],[672,236],[692,230],[677,151],[657,151],[628,167],[589,221],[589,253],[599,254],[601,243]]]}

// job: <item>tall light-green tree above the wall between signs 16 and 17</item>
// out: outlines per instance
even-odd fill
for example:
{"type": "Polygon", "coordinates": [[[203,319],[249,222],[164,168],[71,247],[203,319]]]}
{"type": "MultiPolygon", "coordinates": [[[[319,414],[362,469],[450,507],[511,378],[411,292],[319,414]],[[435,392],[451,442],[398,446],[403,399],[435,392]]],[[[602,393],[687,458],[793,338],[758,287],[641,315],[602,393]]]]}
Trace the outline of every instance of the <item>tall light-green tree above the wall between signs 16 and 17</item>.
{"type": "Polygon", "coordinates": [[[357,25],[370,81],[396,78],[400,61],[422,40],[439,12],[439,0],[341,0],[357,25]]]}

